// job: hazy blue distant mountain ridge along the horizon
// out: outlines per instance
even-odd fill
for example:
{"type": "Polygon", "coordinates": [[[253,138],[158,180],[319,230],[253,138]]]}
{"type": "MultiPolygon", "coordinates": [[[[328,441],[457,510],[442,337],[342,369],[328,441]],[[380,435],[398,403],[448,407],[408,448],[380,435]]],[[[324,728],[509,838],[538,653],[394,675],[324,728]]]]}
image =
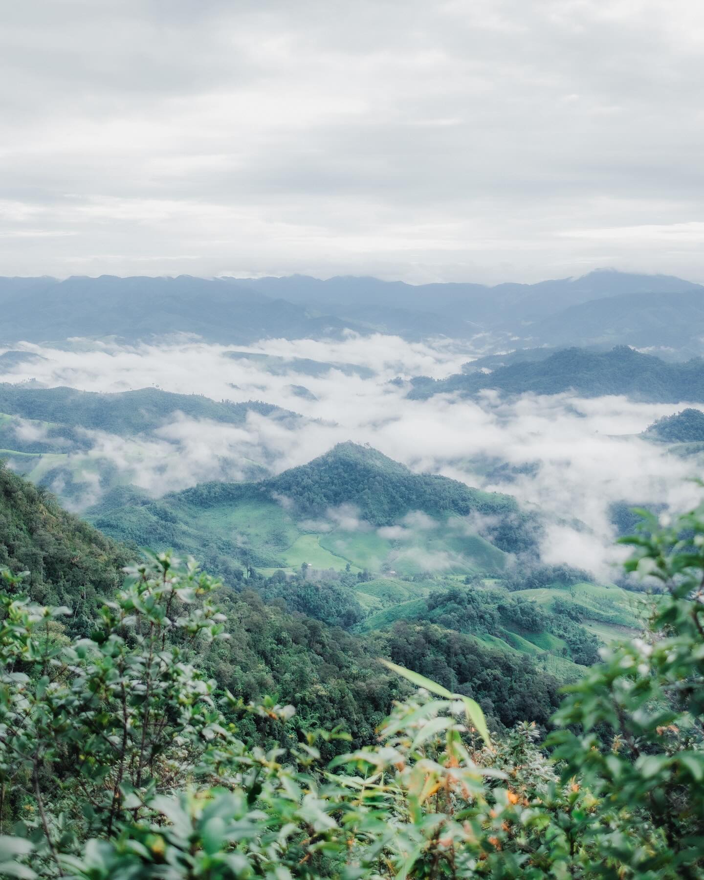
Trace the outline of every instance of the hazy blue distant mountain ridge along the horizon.
{"type": "Polygon", "coordinates": [[[600,270],[535,284],[407,284],[369,277],[326,280],[0,278],[0,342],[113,336],[129,341],[195,334],[247,344],[266,338],[397,334],[471,339],[503,334],[539,345],[669,345],[699,353],[704,287],[671,275],[600,270]],[[662,331],[662,332],[660,332],[662,331]]]}

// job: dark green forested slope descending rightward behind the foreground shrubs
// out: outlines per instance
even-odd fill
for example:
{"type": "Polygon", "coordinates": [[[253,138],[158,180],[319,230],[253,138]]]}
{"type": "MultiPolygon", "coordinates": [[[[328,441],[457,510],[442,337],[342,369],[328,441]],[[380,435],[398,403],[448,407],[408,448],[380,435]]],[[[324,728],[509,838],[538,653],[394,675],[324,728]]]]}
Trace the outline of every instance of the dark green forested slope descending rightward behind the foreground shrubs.
{"type": "MultiPolygon", "coordinates": [[[[4,468],[0,517],[0,566],[28,570],[25,584],[32,598],[67,606],[70,614],[61,625],[52,624],[55,631],[65,627],[73,635],[89,634],[99,606],[121,583],[121,568],[134,552],[4,468]]],[[[238,590],[222,590],[218,601],[227,612],[232,638],[214,642],[201,664],[219,686],[243,700],[266,693],[277,693],[283,702],[296,700],[293,730],[341,723],[356,742],[370,742],[403,691],[399,680],[377,663],[378,656],[406,660],[412,654],[415,669],[472,693],[495,723],[523,717],[546,722],[557,705],[556,679],[517,653],[430,624],[400,625],[390,634],[362,638],[287,612],[280,600],[262,601],[251,589],[265,591],[259,576],[230,584],[238,590]]],[[[259,736],[253,723],[243,732],[259,736]]]]}

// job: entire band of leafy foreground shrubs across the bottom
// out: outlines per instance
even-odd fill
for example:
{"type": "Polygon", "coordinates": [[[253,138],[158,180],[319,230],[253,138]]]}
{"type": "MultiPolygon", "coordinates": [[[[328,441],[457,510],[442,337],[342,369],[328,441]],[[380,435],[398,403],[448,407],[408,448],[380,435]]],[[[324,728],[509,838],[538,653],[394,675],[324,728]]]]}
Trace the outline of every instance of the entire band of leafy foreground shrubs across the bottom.
{"type": "Polygon", "coordinates": [[[340,730],[247,748],[244,705],[198,671],[225,636],[218,586],[165,554],[128,570],[90,639],[66,609],[0,598],[0,875],[165,877],[704,876],[704,510],[629,539],[655,578],[649,632],[571,686],[556,730],[492,737],[480,708],[418,690],[378,743],[340,730]]]}

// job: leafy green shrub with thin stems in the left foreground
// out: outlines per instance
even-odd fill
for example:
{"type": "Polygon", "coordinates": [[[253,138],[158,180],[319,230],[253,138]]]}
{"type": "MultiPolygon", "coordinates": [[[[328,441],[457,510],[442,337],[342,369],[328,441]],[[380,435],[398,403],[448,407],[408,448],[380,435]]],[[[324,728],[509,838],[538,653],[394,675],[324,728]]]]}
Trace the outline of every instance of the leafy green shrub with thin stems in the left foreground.
{"type": "Polygon", "coordinates": [[[21,576],[3,577],[0,820],[58,871],[62,851],[139,818],[151,794],[202,769],[206,745],[231,739],[215,683],[190,662],[199,642],[224,636],[218,583],[151,556],[128,570],[92,637],[67,644],[57,623],[69,609],[37,605],[21,576]]]}

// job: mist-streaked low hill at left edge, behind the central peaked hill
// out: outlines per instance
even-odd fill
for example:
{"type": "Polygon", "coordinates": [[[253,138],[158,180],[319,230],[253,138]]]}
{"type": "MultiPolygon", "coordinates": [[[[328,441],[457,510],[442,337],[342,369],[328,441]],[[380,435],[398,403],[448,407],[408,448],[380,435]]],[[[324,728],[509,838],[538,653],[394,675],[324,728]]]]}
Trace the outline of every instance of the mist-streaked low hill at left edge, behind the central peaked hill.
{"type": "Polygon", "coordinates": [[[0,384],[0,455],[74,510],[131,481],[163,494],[174,488],[174,478],[183,487],[216,477],[266,476],[266,444],[258,444],[258,460],[248,454],[253,444],[246,438],[257,420],[284,432],[305,421],[260,401],[216,401],[158,388],[101,393],[0,384]],[[209,432],[206,444],[202,430],[209,432]]]}

